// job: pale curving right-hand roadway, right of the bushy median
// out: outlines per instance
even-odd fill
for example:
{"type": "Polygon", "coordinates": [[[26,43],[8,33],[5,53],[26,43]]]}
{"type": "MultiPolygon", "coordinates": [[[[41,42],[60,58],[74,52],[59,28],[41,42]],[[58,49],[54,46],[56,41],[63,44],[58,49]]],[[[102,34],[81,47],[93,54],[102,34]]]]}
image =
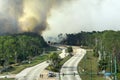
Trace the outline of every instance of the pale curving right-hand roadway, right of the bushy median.
{"type": "Polygon", "coordinates": [[[76,50],[76,54],[62,66],[60,71],[61,80],[81,80],[77,72],[77,66],[85,54],[86,51],[84,49],[79,48],[76,50]]]}

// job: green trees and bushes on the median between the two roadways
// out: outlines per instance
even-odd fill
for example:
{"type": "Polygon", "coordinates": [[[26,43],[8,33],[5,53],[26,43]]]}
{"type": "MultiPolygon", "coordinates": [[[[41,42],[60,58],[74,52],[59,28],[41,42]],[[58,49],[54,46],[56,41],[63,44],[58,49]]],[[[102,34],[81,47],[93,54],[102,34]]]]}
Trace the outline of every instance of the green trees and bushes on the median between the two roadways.
{"type": "Polygon", "coordinates": [[[49,55],[50,65],[47,67],[47,69],[53,72],[60,72],[62,65],[72,57],[72,47],[67,47],[67,52],[69,53],[69,55],[67,55],[63,59],[60,58],[58,53],[51,53],[49,55]]]}

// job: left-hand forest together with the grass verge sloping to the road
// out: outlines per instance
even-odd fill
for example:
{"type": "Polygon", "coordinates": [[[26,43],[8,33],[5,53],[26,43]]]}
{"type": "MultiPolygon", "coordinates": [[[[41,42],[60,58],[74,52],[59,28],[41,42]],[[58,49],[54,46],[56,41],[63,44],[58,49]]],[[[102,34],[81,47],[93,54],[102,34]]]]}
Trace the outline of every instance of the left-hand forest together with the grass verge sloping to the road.
{"type": "Polygon", "coordinates": [[[26,67],[47,60],[50,47],[36,33],[20,33],[0,36],[0,72],[18,73],[26,67]],[[45,52],[46,51],[46,52],[45,52]],[[45,55],[44,55],[45,54],[45,55]]]}

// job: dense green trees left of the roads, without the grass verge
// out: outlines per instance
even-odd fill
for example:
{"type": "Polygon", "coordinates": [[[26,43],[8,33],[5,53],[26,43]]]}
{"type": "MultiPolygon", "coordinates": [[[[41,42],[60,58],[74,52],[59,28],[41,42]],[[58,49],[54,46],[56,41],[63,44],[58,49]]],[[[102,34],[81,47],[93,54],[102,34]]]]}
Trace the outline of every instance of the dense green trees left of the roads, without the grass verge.
{"type": "Polygon", "coordinates": [[[48,47],[43,37],[36,33],[21,33],[0,36],[0,65],[6,66],[31,60],[48,47]]]}

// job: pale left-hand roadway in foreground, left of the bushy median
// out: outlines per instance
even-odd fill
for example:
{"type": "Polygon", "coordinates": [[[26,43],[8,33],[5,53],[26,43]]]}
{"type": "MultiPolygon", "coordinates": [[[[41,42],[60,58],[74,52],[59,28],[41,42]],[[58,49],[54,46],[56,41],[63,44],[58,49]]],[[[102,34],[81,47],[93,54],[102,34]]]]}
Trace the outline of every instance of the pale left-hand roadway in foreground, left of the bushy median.
{"type": "Polygon", "coordinates": [[[45,61],[34,67],[27,68],[16,75],[16,80],[38,80],[39,75],[48,65],[45,61]]]}

